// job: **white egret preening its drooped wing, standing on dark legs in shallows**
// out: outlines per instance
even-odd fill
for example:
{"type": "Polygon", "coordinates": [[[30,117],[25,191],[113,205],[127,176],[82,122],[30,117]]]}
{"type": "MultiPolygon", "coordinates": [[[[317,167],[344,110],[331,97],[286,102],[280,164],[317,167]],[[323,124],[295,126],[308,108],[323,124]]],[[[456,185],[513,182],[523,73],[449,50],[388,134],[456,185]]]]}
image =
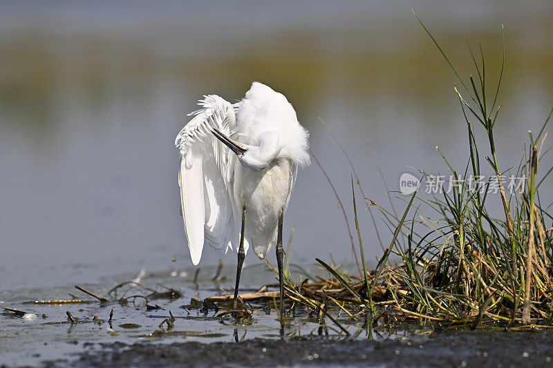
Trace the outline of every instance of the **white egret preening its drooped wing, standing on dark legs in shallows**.
{"type": "Polygon", "coordinates": [[[251,246],[264,258],[276,241],[283,316],[283,215],[298,167],[310,164],[308,132],[286,97],[259,82],[236,104],[217,95],[198,104],[203,108],[175,140],[192,263],[200,262],[205,243],[218,258],[238,251],[236,309],[245,253],[251,246]]]}

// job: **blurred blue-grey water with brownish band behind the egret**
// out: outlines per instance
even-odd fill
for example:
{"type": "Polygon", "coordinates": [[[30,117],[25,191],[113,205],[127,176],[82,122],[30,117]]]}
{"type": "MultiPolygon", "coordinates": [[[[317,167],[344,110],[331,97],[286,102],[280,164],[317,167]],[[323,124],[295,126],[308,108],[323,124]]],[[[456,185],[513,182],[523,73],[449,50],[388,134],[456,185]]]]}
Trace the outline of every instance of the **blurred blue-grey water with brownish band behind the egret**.
{"type": "MultiPolygon", "coordinates": [[[[467,41],[474,50],[481,41],[490,91],[505,25],[496,132],[503,168],[518,166],[527,130],[541,126],[553,105],[550,1],[0,4],[0,289],[191,267],[174,137],[201,95],[237,101],[252,81],[293,104],[350,221],[350,167],[317,115],[380,204],[388,204],[386,190],[363,137],[390,191],[402,173],[417,173],[407,166],[446,172],[436,145],[464,166],[456,80],[411,8],[462,75],[474,72],[467,41]]],[[[402,212],[404,197],[390,195],[402,212]]],[[[382,250],[359,210],[374,260],[382,250]]],[[[377,221],[388,243],[379,214],[377,221]]],[[[353,261],[344,218],[315,162],[298,175],[286,241],[292,226],[292,262],[328,260],[329,253],[353,261]]],[[[217,260],[205,249],[203,262],[217,260]]],[[[234,262],[227,255],[225,263],[234,262]]],[[[247,264],[259,262],[247,255],[247,264]]]]}

